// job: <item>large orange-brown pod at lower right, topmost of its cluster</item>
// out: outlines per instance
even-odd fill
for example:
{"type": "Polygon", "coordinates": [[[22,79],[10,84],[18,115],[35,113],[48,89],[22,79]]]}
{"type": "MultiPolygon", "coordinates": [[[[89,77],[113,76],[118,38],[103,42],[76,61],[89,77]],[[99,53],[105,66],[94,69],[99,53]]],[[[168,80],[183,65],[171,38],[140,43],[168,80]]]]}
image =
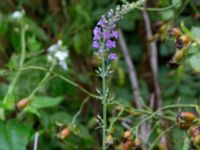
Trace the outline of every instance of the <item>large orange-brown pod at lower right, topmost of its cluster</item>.
{"type": "Polygon", "coordinates": [[[192,112],[181,112],[177,118],[177,125],[183,129],[186,130],[188,129],[191,125],[192,122],[196,119],[196,116],[192,112]]]}

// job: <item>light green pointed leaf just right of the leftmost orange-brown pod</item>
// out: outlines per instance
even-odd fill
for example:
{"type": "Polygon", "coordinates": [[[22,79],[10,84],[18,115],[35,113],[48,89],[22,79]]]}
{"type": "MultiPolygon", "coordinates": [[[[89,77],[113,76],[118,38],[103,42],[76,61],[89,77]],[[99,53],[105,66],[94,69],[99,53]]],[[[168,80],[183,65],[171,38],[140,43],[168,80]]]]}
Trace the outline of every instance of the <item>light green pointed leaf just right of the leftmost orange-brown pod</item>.
{"type": "Polygon", "coordinates": [[[35,108],[48,108],[56,106],[62,101],[63,101],[62,97],[53,98],[46,96],[37,96],[33,98],[31,106],[35,108]]]}

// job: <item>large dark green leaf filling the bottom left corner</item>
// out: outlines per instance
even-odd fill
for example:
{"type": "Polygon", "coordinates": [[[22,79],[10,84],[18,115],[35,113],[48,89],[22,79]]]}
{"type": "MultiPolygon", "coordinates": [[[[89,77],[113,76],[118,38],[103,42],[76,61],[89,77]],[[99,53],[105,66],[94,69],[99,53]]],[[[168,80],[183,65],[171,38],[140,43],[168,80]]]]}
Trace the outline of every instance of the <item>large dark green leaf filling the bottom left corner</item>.
{"type": "Polygon", "coordinates": [[[30,129],[17,121],[0,122],[0,149],[26,150],[30,129]]]}

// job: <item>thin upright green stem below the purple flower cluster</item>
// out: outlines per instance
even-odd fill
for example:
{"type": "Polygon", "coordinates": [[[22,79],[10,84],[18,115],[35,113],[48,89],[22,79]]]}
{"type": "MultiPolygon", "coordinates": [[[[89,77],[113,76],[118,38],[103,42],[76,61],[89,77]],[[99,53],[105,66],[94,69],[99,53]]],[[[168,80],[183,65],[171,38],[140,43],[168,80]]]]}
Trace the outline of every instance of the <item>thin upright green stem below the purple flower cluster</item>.
{"type": "Polygon", "coordinates": [[[102,150],[106,150],[106,128],[107,128],[107,98],[106,98],[106,76],[105,76],[105,57],[102,56],[102,95],[103,95],[103,135],[102,135],[102,150]]]}

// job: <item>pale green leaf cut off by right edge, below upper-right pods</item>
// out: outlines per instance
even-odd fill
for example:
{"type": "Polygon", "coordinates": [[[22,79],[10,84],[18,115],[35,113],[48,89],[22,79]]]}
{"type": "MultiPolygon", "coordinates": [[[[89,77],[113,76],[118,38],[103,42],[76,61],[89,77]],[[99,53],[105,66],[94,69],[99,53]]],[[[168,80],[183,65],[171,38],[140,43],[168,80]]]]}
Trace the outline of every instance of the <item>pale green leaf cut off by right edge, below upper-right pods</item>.
{"type": "Polygon", "coordinates": [[[196,72],[200,72],[200,53],[193,55],[190,59],[190,64],[196,72]]]}

